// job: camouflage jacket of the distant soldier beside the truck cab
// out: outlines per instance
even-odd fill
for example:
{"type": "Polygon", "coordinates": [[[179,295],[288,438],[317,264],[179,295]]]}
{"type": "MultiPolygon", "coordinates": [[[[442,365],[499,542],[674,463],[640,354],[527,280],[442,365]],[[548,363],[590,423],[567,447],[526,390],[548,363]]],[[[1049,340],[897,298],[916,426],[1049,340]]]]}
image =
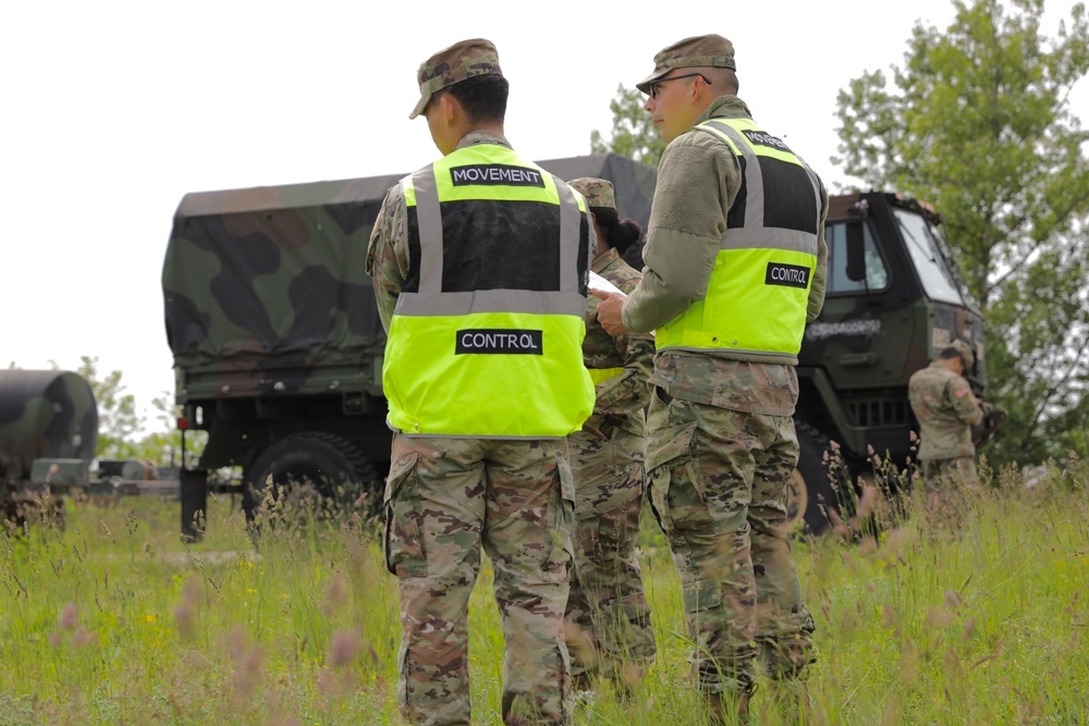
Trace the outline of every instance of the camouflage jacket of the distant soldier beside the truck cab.
{"type": "Polygon", "coordinates": [[[935,360],[911,374],[907,395],[919,421],[920,462],[976,455],[971,427],[983,411],[968,381],[935,360]]]}

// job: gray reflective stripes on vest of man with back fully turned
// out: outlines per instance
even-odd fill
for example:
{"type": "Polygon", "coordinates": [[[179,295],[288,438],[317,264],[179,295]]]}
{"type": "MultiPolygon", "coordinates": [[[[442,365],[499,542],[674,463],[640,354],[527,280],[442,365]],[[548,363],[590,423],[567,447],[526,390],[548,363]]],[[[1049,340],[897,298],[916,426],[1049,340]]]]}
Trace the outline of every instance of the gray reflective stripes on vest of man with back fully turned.
{"type": "MultiPolygon", "coordinates": [[[[547,173],[547,172],[542,172],[547,173]]],[[[555,180],[555,177],[552,177],[555,180]]],[[[582,213],[571,188],[555,182],[560,193],[560,291],[478,290],[442,292],[442,209],[435,172],[427,167],[412,175],[419,229],[419,292],[402,292],[394,315],[465,316],[473,312],[572,315],[586,312],[586,298],[578,293],[578,232],[582,213]]]]}

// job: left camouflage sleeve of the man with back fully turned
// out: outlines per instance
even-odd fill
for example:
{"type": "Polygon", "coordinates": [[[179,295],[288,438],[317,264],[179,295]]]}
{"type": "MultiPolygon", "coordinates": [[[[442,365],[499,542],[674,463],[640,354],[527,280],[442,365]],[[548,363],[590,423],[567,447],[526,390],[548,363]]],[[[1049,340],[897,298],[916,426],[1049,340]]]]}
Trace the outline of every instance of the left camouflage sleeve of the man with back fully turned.
{"type": "Polygon", "coordinates": [[[390,321],[393,319],[397,296],[401,295],[405,278],[408,275],[406,216],[401,185],[394,184],[386,193],[382,207],[378,210],[375,227],[370,232],[370,245],[367,248],[367,274],[370,275],[375,286],[378,316],[387,333],[390,332],[390,321]]]}

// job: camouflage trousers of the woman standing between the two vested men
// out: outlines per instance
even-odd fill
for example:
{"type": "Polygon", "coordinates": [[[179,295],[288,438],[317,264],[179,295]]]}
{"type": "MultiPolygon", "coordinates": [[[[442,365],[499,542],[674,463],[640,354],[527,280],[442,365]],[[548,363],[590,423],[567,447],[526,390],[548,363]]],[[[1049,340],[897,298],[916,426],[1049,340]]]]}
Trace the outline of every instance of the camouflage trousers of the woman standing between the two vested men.
{"type": "Polygon", "coordinates": [[[577,431],[567,441],[575,480],[575,569],[564,637],[572,674],[600,673],[629,682],[646,673],[656,651],[637,552],[646,442],[621,429],[608,436],[577,431]]]}

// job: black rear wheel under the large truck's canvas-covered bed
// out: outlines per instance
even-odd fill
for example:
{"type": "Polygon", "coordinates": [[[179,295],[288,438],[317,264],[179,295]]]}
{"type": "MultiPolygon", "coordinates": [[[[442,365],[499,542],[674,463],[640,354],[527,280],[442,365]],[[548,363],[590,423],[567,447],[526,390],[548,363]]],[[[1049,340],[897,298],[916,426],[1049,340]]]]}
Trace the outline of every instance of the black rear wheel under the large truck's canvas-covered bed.
{"type": "Polygon", "coordinates": [[[295,433],[274,442],[243,477],[242,509],[254,521],[266,496],[285,504],[313,506],[319,518],[353,510],[364,492],[376,492],[375,465],[348,441],[319,431],[295,433]]]}

